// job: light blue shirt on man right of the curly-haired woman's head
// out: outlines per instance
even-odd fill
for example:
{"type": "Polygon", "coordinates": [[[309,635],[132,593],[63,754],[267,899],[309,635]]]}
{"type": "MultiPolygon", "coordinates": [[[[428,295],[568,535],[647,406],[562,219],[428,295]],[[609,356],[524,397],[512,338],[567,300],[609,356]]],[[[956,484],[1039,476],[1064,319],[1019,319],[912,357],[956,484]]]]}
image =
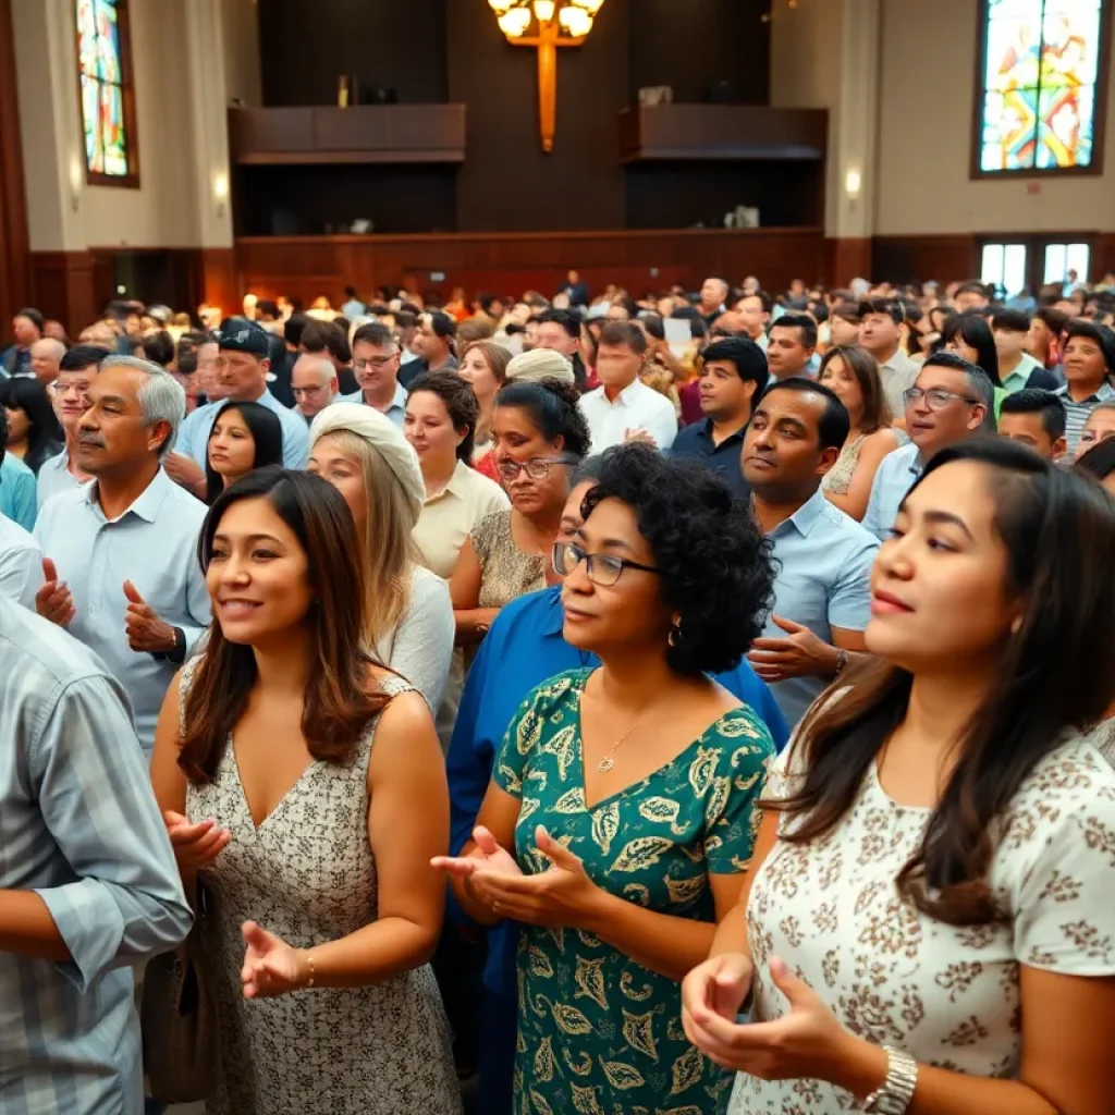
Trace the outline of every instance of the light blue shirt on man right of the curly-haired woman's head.
{"type": "MultiPolygon", "coordinates": [[[[774,543],[777,578],[774,613],[807,627],[818,639],[833,641],[833,628],[862,631],[871,619],[871,566],[879,542],[854,518],[834,507],[817,489],[768,535],[774,543]]],[[[763,634],[785,639],[768,617],[763,634]]],[[[770,686],[789,721],[798,723],[825,678],[791,678],[770,686]]]]}

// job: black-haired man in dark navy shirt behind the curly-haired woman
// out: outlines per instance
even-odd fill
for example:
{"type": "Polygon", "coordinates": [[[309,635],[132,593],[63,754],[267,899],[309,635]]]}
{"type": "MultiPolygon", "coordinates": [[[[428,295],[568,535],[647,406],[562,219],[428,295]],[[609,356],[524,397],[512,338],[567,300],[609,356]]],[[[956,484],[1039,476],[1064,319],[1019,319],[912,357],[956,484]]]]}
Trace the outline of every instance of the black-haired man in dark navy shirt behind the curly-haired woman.
{"type": "Polygon", "coordinates": [[[705,420],[680,430],[675,457],[692,457],[719,473],[741,498],[750,488],[740,467],[739,450],[752,409],[766,390],[766,356],[749,338],[728,337],[705,350],[700,371],[700,409],[705,420]]]}

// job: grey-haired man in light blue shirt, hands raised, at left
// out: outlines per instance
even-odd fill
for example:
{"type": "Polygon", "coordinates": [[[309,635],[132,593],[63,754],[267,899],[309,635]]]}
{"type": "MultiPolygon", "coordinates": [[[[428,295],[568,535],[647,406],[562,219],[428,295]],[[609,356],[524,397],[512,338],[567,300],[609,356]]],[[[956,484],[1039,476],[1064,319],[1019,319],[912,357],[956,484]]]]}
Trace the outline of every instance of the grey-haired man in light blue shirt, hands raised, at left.
{"type": "Polygon", "coordinates": [[[210,622],[195,554],[205,505],[163,468],[185,411],[164,368],[106,358],[77,423],[77,465],[94,482],[47,501],[36,524],[36,610],[120,682],[148,756],[167,686],[210,622]]]}

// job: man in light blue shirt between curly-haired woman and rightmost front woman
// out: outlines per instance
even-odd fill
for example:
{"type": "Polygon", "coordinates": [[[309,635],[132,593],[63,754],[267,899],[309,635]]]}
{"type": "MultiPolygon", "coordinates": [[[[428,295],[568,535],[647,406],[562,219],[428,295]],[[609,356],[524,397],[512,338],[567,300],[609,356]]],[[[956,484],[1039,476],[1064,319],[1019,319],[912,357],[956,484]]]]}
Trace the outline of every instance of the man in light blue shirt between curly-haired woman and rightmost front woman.
{"type": "Polygon", "coordinates": [[[835,507],[821,481],[847,439],[844,404],[804,377],[773,384],[744,438],[744,477],[774,546],[774,610],[747,656],[791,727],[864,649],[879,543],[835,507]]]}

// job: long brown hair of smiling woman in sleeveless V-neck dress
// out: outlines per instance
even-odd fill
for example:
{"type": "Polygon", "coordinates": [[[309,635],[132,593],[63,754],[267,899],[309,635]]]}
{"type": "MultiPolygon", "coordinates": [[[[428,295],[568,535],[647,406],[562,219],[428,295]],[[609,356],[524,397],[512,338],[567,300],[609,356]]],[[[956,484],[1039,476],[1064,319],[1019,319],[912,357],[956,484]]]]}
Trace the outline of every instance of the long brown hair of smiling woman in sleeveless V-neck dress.
{"type": "MultiPolygon", "coordinates": [[[[352,515],[340,493],[309,473],[263,468],[222,493],[202,526],[197,558],[209,570],[224,513],[243,500],[266,500],[306,552],[313,593],[302,620],[310,628],[310,663],[302,734],[327,763],[352,760],[368,726],[390,700],[371,682],[363,648],[363,572],[352,515]]],[[[178,766],[192,783],[212,782],[256,680],[251,647],[229,642],[213,620],[205,656],[186,695],[178,766]]]]}

